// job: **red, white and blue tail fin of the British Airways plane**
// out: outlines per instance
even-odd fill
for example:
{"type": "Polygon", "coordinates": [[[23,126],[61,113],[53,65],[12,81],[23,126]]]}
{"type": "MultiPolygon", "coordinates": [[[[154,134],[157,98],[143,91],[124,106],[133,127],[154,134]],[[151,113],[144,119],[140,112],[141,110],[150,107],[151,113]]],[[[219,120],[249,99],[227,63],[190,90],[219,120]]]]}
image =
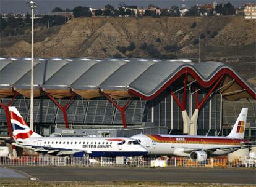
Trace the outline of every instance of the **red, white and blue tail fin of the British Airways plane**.
{"type": "Polygon", "coordinates": [[[28,127],[27,122],[23,119],[16,107],[9,106],[10,119],[12,124],[12,137],[14,140],[25,140],[30,137],[41,137],[28,127]]]}

